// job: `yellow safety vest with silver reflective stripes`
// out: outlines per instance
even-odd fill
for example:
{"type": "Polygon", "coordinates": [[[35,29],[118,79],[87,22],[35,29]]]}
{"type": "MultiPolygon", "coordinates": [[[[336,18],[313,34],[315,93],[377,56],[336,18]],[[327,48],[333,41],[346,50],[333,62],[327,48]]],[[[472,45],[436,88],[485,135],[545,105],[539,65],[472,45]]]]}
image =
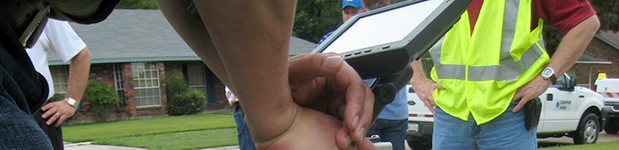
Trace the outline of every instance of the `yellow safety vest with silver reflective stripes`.
{"type": "Polygon", "coordinates": [[[446,113],[478,125],[501,115],[516,90],[549,62],[543,21],[531,16],[532,0],[485,0],[471,34],[468,12],[430,53],[432,80],[444,90],[434,100],[446,113]],[[538,24],[531,31],[532,19],[538,24]]]}

